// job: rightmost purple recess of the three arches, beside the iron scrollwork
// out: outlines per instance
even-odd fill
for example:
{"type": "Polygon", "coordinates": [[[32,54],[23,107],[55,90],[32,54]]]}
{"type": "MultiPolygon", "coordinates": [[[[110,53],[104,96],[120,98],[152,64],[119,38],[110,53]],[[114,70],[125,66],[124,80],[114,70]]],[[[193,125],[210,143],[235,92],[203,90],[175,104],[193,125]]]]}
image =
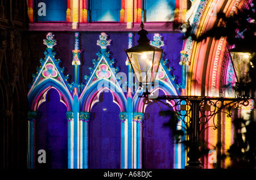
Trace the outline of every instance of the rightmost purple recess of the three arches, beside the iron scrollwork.
{"type": "MultiPolygon", "coordinates": [[[[159,95],[163,92],[159,90],[159,95]]],[[[170,117],[159,116],[161,110],[170,110],[158,104],[150,104],[146,109],[143,123],[143,166],[145,169],[174,168],[174,140],[170,127],[165,127],[170,117]]]]}

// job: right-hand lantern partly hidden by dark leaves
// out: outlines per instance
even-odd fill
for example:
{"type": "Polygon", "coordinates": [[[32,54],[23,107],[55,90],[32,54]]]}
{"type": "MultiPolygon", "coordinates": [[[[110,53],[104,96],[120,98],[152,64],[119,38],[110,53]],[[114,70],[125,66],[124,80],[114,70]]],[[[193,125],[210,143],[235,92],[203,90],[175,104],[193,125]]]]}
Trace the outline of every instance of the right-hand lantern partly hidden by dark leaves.
{"type": "Polygon", "coordinates": [[[254,68],[251,59],[255,52],[248,47],[238,46],[230,49],[230,58],[232,60],[234,72],[236,74],[236,96],[240,98],[254,98],[254,84],[249,75],[250,68],[254,68]]]}

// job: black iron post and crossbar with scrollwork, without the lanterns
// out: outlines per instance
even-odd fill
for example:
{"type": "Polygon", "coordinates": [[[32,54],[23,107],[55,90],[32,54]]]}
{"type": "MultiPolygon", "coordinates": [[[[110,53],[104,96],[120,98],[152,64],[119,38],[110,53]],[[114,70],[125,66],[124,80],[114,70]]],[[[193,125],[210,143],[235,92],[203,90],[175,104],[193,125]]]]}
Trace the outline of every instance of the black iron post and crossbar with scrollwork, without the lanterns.
{"type": "Polygon", "coordinates": [[[172,109],[176,116],[183,121],[183,125],[178,126],[185,129],[188,139],[191,141],[188,151],[189,161],[185,168],[193,169],[203,168],[199,161],[199,142],[207,128],[213,127],[214,130],[218,128],[215,116],[219,113],[225,113],[227,117],[232,117],[233,109],[245,108],[249,105],[251,105],[250,108],[254,106],[253,99],[246,97],[158,96],[150,98],[148,95],[143,95],[140,97],[144,98],[144,104],[162,103],[172,109]],[[209,121],[213,121],[212,125],[209,125],[209,121]]]}

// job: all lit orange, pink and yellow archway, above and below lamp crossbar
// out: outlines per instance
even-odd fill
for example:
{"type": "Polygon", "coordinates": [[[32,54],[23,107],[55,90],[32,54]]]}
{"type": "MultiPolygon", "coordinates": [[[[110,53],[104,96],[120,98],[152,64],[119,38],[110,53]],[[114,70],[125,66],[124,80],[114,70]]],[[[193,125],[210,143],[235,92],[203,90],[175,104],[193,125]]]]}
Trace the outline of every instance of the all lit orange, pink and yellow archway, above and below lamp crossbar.
{"type": "MultiPolygon", "coordinates": [[[[226,16],[236,13],[241,8],[246,8],[250,1],[191,1],[192,6],[188,10],[186,22],[190,22],[193,31],[196,35],[207,31],[217,25],[216,13],[223,11],[226,16]]],[[[216,40],[208,38],[204,42],[193,42],[188,38],[184,42],[183,57],[180,64],[187,71],[187,75],[183,74],[185,80],[181,87],[183,95],[195,96],[222,96],[234,97],[233,85],[236,82],[234,69],[230,61],[228,49],[230,46],[226,42],[226,37],[221,37],[216,40]],[[191,76],[188,76],[190,75],[191,76]],[[202,91],[203,90],[203,91],[202,91]]],[[[183,72],[185,72],[183,71],[183,72]]],[[[237,113],[237,117],[241,117],[245,110],[241,108],[237,113]]],[[[234,113],[235,114],[235,113],[234,113]]],[[[226,152],[230,144],[233,143],[233,121],[226,115],[221,115],[221,128],[213,130],[208,128],[205,131],[205,142],[208,143],[208,148],[213,149],[216,144],[225,144],[219,148],[219,152],[226,152]],[[218,139],[217,137],[223,137],[218,139]]],[[[215,117],[214,120],[219,121],[220,117],[215,117]]],[[[208,125],[210,126],[209,122],[208,125]]],[[[220,126],[219,126],[220,127],[220,126]]],[[[213,163],[208,161],[206,156],[202,162],[205,168],[213,168],[213,163]]],[[[226,159],[221,162],[221,168],[227,168],[230,165],[230,160],[226,159]]]]}

